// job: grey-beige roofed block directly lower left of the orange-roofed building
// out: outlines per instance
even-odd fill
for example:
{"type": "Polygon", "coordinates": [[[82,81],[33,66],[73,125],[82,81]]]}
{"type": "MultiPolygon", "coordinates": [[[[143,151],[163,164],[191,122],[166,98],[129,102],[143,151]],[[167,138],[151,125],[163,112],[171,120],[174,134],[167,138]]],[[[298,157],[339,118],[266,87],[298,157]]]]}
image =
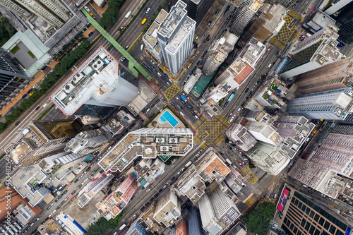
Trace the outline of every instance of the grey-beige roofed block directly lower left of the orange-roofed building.
{"type": "Polygon", "coordinates": [[[186,195],[191,202],[196,203],[205,193],[206,186],[201,176],[198,175],[195,165],[191,164],[174,183],[174,188],[181,195],[186,195]]]}

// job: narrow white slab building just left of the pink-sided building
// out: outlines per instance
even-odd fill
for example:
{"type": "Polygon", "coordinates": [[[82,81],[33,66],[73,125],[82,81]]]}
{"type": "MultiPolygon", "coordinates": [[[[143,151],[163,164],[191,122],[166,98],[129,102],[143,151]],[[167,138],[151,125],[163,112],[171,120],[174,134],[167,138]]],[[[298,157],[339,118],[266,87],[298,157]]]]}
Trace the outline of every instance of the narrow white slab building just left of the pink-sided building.
{"type": "Polygon", "coordinates": [[[101,176],[88,182],[85,187],[78,193],[78,206],[84,207],[87,203],[107,184],[112,181],[112,174],[102,174],[101,176]]]}

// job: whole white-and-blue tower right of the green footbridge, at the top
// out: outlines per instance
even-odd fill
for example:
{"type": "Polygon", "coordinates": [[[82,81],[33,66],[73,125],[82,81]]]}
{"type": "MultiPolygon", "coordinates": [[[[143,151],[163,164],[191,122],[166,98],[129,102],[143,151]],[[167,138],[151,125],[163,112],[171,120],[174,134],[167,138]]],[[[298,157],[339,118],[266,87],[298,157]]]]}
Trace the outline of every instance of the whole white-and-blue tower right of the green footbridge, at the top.
{"type": "Polygon", "coordinates": [[[177,75],[191,55],[196,21],[187,16],[186,4],[178,1],[157,30],[165,66],[177,75]]]}

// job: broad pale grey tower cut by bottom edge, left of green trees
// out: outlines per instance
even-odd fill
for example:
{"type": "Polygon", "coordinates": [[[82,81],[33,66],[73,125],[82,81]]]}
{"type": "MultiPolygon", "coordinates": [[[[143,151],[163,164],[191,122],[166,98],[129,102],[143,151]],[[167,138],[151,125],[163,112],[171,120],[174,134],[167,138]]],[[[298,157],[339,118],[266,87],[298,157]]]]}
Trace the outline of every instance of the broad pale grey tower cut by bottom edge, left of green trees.
{"type": "Polygon", "coordinates": [[[209,234],[220,234],[240,215],[236,205],[220,187],[204,194],[198,201],[203,229],[209,234]]]}

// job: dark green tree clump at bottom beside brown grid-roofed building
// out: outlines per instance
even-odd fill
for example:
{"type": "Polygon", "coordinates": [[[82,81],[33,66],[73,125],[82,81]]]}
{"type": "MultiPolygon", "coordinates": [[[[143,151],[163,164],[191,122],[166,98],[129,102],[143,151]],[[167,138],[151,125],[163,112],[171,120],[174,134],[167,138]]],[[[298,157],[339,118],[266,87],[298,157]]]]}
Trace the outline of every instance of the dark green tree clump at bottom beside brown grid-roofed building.
{"type": "Polygon", "coordinates": [[[275,204],[261,203],[256,210],[246,214],[243,218],[246,228],[252,234],[266,235],[270,228],[270,220],[275,213],[275,204]]]}

